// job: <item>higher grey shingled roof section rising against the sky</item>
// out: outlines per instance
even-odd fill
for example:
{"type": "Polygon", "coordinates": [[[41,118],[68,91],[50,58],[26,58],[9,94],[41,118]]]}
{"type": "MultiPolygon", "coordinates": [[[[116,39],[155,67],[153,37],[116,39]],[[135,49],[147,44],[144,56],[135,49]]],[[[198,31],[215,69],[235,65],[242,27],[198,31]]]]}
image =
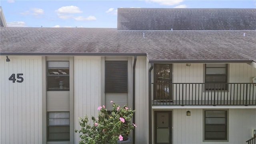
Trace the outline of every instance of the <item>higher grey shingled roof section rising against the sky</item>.
{"type": "Polygon", "coordinates": [[[118,30],[256,30],[256,9],[118,8],[118,30]]]}

